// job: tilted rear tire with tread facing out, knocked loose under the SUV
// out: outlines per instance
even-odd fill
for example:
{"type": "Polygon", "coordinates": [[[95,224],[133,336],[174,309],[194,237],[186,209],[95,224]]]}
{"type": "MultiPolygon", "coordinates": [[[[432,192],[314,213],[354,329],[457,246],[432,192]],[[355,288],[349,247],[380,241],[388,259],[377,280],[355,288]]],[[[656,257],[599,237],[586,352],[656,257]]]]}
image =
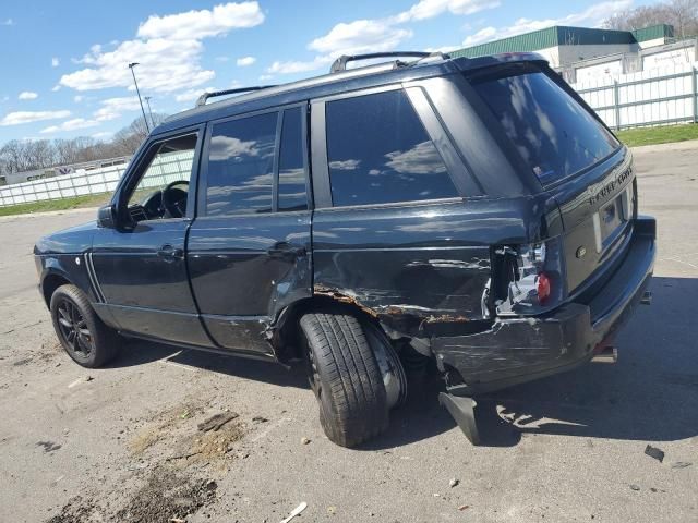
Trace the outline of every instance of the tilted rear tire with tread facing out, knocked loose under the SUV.
{"type": "Polygon", "coordinates": [[[346,314],[314,313],[304,315],[300,326],[327,437],[341,447],[354,447],[385,431],[385,386],[359,320],[346,314]]]}

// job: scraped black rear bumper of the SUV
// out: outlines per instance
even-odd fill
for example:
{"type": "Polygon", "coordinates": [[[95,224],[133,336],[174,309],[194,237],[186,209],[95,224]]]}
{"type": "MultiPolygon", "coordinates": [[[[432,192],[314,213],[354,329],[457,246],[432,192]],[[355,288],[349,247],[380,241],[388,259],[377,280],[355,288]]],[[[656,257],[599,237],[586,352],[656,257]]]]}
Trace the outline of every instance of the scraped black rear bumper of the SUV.
{"type": "Polygon", "coordinates": [[[498,319],[477,335],[433,339],[440,368],[456,374],[456,379],[449,376],[449,392],[493,391],[588,362],[629,318],[649,285],[655,238],[654,219],[637,219],[624,260],[588,303],[568,303],[535,318],[498,319]]]}

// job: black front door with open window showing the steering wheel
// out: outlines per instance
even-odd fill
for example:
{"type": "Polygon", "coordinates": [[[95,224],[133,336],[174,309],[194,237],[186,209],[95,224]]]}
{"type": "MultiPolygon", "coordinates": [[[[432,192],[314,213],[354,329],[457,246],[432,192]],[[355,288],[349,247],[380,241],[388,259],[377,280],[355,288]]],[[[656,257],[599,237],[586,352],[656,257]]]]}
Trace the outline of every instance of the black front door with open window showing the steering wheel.
{"type": "Polygon", "coordinates": [[[115,195],[125,223],[99,229],[95,236],[91,259],[100,294],[96,306],[106,307],[125,332],[212,344],[191,294],[184,256],[202,135],[194,129],[154,139],[115,195]]]}

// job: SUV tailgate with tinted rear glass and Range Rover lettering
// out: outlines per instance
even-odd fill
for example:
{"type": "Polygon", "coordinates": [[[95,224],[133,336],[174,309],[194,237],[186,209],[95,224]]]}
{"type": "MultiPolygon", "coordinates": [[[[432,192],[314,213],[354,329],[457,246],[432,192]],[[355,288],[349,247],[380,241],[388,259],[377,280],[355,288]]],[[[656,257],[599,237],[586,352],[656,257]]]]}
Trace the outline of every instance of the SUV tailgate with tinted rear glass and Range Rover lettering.
{"type": "Polygon", "coordinates": [[[530,169],[557,202],[567,289],[580,292],[613,266],[635,216],[630,154],[545,65],[524,62],[468,74],[530,169]]]}

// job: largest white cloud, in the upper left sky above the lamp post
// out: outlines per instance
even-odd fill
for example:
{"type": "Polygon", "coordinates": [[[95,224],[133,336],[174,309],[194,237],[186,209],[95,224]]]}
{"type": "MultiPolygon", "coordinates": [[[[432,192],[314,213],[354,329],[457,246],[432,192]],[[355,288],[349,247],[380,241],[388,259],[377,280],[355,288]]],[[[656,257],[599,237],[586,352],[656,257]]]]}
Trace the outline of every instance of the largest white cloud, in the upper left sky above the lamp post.
{"type": "Polygon", "coordinates": [[[87,66],[61,76],[60,85],[76,90],[108,87],[133,90],[133,77],[127,65],[136,61],[140,65],[135,74],[143,89],[170,93],[193,88],[215,76],[214,71],[201,65],[203,38],[252,27],[263,21],[257,2],[229,2],[213,10],[153,15],[140,25],[135,39],[122,41],[111,50],[92,46],[88,53],[73,60],[87,66]]]}

